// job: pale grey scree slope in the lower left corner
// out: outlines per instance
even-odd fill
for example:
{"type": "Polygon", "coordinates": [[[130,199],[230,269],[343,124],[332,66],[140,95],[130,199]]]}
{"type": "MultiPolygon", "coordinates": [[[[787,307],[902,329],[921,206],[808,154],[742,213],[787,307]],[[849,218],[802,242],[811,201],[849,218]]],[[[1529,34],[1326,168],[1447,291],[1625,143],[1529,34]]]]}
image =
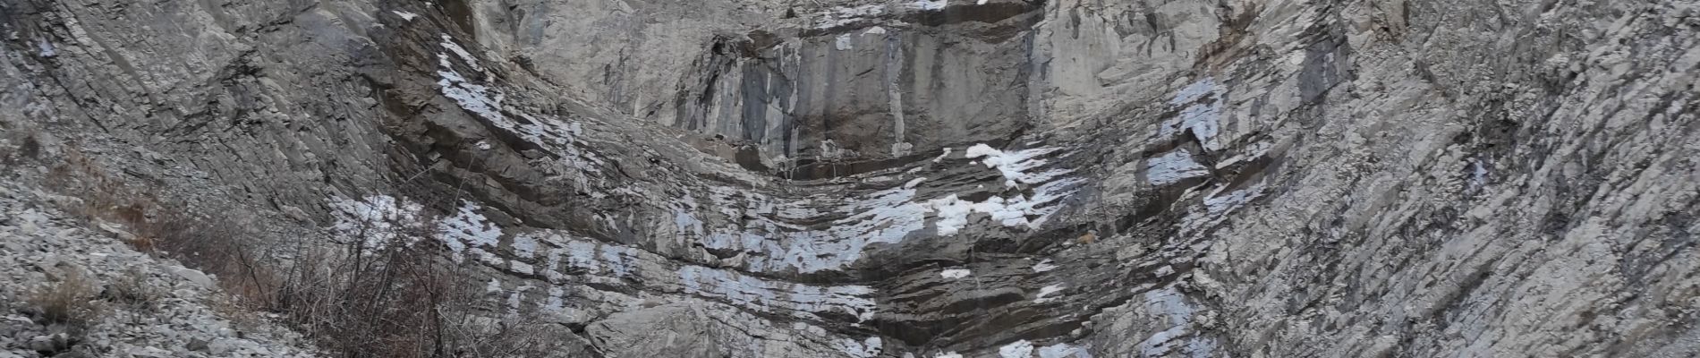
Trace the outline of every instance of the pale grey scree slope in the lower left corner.
{"type": "MultiPolygon", "coordinates": [[[[8,182],[10,183],[10,182],[8,182]]],[[[104,231],[80,229],[51,193],[0,187],[0,356],[318,356],[309,341],[269,321],[238,324],[214,307],[216,287],[180,277],[177,263],[138,253],[104,231]],[[34,294],[80,270],[94,312],[87,327],[32,316],[34,294]],[[124,297],[121,282],[148,287],[124,297]],[[143,302],[144,300],[144,302],[143,302]],[[209,344],[211,343],[211,344],[209,344]]],[[[201,275],[202,280],[211,280],[201,275]]]]}

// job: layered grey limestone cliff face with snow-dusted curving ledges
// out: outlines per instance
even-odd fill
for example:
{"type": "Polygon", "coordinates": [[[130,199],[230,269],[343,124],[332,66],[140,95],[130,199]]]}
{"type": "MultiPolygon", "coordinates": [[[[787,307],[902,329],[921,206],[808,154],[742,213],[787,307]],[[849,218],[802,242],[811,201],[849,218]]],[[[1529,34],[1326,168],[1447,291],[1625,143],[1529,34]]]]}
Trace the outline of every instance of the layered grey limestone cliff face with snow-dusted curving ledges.
{"type": "Polygon", "coordinates": [[[0,10],[8,146],[442,217],[568,356],[1700,353],[1690,2],[0,10]]]}

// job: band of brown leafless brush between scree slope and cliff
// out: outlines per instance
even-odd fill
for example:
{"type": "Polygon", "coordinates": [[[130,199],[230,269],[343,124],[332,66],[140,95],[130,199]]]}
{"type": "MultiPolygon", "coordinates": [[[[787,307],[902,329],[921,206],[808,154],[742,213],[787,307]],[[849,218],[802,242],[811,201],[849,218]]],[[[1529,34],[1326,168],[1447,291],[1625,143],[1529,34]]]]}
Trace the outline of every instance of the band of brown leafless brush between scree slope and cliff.
{"type": "MultiPolygon", "coordinates": [[[[260,324],[253,312],[275,312],[323,348],[350,358],[547,356],[566,344],[556,339],[564,327],[530,314],[479,319],[490,314],[474,304],[481,300],[483,282],[461,271],[439,248],[401,243],[408,236],[432,236],[425,227],[434,224],[393,226],[422,229],[400,232],[393,236],[396,243],[381,246],[366,246],[359,238],[342,244],[296,239],[292,248],[274,255],[262,248],[284,244],[267,244],[264,236],[226,217],[162,205],[155,195],[105,176],[75,149],[49,170],[48,183],[82,199],[68,210],[83,219],[128,227],[134,236],[126,241],[138,251],[216,275],[223,294],[209,304],[238,326],[260,324]]],[[[143,287],[144,282],[119,280],[114,294],[126,302],[146,302],[150,294],[143,287]]]]}

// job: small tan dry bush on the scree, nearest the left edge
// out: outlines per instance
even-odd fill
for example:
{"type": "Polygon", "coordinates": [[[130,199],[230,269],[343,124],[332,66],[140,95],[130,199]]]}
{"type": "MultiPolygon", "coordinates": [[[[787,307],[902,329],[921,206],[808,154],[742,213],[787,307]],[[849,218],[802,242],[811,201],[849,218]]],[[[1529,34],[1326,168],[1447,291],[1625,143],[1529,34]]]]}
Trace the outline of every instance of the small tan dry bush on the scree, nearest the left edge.
{"type": "Polygon", "coordinates": [[[29,294],[29,305],[46,324],[88,327],[100,316],[100,283],[78,270],[66,270],[58,282],[42,283],[29,294]]]}

